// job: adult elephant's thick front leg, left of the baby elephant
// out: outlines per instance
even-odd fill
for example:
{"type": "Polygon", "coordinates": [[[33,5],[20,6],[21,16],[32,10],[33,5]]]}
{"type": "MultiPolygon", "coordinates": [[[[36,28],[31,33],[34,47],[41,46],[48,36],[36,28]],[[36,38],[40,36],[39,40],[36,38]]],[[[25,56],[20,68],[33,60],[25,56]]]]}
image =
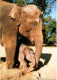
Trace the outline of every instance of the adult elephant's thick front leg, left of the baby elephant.
{"type": "Polygon", "coordinates": [[[5,44],[6,49],[6,62],[8,68],[13,68],[14,65],[14,57],[16,50],[16,37],[12,37],[13,39],[7,39],[8,41],[5,44]]]}

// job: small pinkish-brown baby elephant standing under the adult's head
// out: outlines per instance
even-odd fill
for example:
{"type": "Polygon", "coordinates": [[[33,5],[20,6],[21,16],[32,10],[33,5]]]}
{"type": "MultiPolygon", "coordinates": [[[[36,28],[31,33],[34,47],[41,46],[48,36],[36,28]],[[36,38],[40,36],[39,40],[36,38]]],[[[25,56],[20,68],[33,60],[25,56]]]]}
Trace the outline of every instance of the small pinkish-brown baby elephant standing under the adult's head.
{"type": "Polygon", "coordinates": [[[25,58],[32,63],[29,68],[33,68],[35,65],[35,55],[34,51],[29,48],[28,46],[21,44],[19,48],[19,58],[20,61],[20,68],[27,68],[27,63],[25,61],[25,58]]]}

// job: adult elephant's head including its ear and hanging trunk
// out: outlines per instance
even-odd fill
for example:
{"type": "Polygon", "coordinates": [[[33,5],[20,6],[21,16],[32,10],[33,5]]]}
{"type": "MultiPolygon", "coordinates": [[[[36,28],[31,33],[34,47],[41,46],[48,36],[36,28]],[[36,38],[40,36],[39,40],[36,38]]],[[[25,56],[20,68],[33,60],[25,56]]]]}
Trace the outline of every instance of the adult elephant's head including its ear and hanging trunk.
{"type": "MultiPolygon", "coordinates": [[[[43,46],[42,12],[35,5],[26,5],[22,7],[21,10],[22,13],[19,33],[28,38],[31,42],[35,43],[35,61],[37,66],[43,46]]],[[[9,14],[9,16],[16,21],[16,25],[19,25],[20,22],[18,11],[19,7],[15,5],[9,14]]]]}

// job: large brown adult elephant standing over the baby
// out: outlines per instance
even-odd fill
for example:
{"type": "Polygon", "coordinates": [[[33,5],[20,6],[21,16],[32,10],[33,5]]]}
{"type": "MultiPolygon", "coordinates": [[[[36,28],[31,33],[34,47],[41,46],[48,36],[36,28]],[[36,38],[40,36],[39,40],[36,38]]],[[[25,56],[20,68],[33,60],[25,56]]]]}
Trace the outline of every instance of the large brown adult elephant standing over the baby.
{"type": "Polygon", "coordinates": [[[14,64],[18,25],[19,33],[35,43],[35,60],[37,66],[43,45],[42,12],[35,5],[19,7],[16,4],[7,2],[0,2],[0,9],[1,43],[5,45],[8,67],[12,68],[14,64]]]}

